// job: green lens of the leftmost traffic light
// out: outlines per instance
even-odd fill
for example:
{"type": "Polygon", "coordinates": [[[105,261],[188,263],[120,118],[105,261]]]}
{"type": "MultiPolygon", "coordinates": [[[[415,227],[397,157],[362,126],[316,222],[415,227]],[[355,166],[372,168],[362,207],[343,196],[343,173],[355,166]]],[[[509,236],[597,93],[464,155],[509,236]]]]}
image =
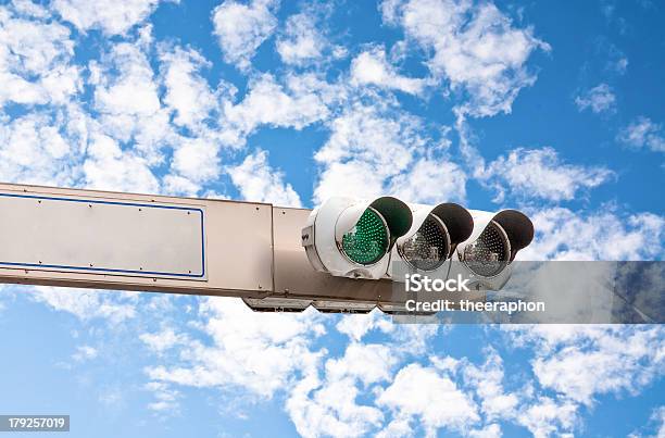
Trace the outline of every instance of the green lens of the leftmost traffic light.
{"type": "Polygon", "coordinates": [[[367,209],[353,228],[342,236],[342,251],[360,264],[374,264],[388,251],[388,228],[379,214],[367,209]]]}

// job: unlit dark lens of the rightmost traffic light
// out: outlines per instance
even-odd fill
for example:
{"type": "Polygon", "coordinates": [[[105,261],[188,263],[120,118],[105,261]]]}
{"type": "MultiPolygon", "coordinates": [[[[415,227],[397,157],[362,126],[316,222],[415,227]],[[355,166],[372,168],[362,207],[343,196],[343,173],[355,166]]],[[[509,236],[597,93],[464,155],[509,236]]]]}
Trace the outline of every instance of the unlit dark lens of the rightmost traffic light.
{"type": "Polygon", "coordinates": [[[498,275],[511,260],[511,243],[505,230],[494,221],[490,222],[476,241],[464,248],[461,259],[477,275],[498,275]]]}

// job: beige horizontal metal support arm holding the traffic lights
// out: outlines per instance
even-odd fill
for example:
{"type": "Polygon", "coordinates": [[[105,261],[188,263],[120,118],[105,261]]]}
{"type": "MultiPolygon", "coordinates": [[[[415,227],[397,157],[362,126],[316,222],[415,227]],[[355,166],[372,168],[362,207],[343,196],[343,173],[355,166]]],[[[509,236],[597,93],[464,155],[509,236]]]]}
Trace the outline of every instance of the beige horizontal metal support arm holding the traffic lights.
{"type": "Polygon", "coordinates": [[[0,184],[0,283],[403,302],[390,280],[315,271],[300,243],[310,212],[260,202],[0,184]]]}

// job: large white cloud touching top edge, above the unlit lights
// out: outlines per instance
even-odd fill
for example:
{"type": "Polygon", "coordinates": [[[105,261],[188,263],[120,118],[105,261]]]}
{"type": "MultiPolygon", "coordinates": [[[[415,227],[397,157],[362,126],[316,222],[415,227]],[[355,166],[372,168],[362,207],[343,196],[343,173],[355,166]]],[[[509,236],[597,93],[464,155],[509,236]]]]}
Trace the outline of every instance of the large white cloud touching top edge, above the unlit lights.
{"type": "Polygon", "coordinates": [[[491,2],[454,0],[388,1],[384,21],[399,24],[410,40],[432,51],[435,77],[467,95],[462,114],[488,116],[511,112],[519,90],[536,76],[525,66],[530,54],[550,47],[531,28],[515,28],[491,2]]]}

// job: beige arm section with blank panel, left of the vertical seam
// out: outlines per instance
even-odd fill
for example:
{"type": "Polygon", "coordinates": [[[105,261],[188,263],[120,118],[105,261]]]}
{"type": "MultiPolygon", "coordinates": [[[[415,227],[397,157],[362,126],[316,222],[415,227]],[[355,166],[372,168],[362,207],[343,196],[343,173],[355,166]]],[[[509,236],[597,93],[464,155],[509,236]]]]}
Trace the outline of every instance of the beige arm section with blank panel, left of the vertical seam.
{"type": "MultiPolygon", "coordinates": [[[[0,193],[27,199],[27,204],[20,209],[15,209],[15,203],[0,202],[0,261],[16,263],[0,264],[0,283],[231,297],[264,297],[273,290],[273,208],[269,204],[2,183],[0,193]],[[37,198],[45,198],[42,204],[37,198]],[[80,202],[83,211],[74,215],[80,216],[76,221],[70,214],[72,211],[66,212],[66,217],[58,217],[65,210],[60,211],[57,202],[46,198],[91,201],[92,208],[80,202]],[[54,210],[40,214],[33,201],[39,208],[54,210]],[[178,212],[165,212],[171,209],[148,212],[138,204],[153,209],[158,205],[183,208],[178,212],[178,212]],[[195,211],[202,212],[203,217],[204,264],[201,262],[201,214],[195,211]],[[87,214],[99,221],[95,226],[88,223],[84,233],[80,224],[91,220],[86,218],[87,214]],[[137,228],[141,221],[142,225],[137,228]],[[100,247],[102,242],[104,250],[100,247]],[[146,258],[148,253],[150,256],[146,258]],[[48,267],[49,263],[76,268],[48,267]],[[153,270],[150,273],[170,274],[141,274],[148,268],[153,270]],[[173,275],[179,273],[187,276],[173,275]]],[[[293,243],[299,245],[299,241],[293,243]]]]}

